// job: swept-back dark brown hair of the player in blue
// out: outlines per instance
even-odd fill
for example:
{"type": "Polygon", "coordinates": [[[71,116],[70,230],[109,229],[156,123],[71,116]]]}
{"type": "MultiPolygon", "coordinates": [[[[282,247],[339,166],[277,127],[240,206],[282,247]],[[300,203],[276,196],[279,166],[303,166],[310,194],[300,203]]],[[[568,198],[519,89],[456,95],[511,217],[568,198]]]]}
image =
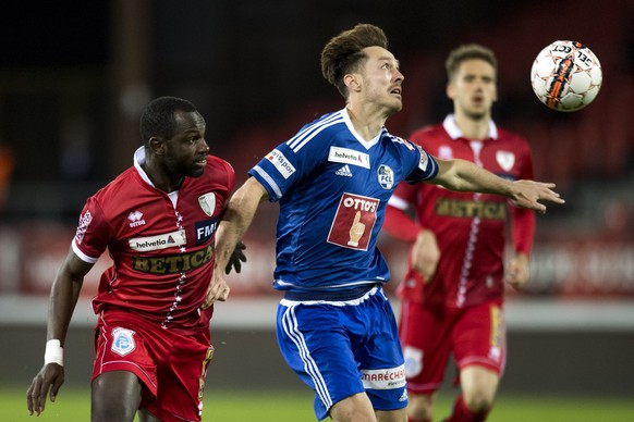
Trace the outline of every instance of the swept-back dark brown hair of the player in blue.
{"type": "Polygon", "coordinates": [[[343,76],[354,72],[367,60],[362,51],[367,47],[388,48],[388,38],[381,28],[370,24],[357,24],[354,28],[342,32],[324,47],[321,51],[321,74],[348,98],[348,88],[343,76]]]}

